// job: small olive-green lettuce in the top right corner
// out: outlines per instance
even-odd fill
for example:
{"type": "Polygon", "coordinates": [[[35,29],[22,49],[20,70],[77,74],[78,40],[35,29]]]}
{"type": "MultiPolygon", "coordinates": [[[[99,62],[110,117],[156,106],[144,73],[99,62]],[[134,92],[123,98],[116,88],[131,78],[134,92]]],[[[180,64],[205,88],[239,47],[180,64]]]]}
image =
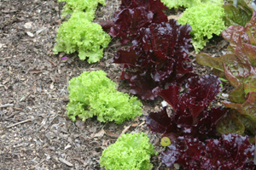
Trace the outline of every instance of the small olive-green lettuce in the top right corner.
{"type": "Polygon", "coordinates": [[[227,2],[223,6],[225,26],[246,26],[253,16],[252,0],[239,0],[237,7],[233,5],[233,0],[227,2]]]}

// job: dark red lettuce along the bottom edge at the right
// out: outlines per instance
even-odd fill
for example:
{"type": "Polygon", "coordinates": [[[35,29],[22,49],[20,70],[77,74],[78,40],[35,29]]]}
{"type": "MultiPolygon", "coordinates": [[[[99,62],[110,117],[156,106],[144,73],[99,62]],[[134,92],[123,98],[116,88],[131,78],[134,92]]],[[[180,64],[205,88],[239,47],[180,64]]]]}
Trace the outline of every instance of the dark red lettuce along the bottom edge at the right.
{"type": "Polygon", "coordinates": [[[254,155],[254,145],[247,136],[223,135],[220,139],[208,139],[204,144],[199,139],[178,137],[162,152],[161,160],[166,167],[174,163],[183,169],[193,170],[253,170],[256,165],[249,158],[254,155]]]}

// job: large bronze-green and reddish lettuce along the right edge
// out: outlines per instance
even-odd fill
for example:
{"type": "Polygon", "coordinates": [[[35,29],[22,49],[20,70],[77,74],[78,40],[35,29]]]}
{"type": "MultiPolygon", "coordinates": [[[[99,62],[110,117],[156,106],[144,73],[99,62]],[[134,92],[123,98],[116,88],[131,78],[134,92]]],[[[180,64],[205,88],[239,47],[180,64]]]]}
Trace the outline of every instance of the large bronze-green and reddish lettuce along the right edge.
{"type": "Polygon", "coordinates": [[[226,107],[233,109],[231,114],[219,122],[220,133],[253,133],[256,123],[256,14],[247,26],[230,26],[222,36],[230,42],[228,54],[213,58],[208,54],[198,54],[196,61],[224,72],[224,76],[235,88],[229,95],[230,101],[223,101],[226,107]],[[240,113],[240,114],[239,114],[240,113]],[[232,126],[227,126],[232,125],[232,126]]]}

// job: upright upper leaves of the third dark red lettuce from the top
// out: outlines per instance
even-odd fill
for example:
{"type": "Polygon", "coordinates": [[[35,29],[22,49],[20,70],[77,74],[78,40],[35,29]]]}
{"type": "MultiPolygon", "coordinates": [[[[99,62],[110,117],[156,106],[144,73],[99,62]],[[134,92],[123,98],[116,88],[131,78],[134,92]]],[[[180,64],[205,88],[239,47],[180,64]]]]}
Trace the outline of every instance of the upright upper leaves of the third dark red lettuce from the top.
{"type": "MultiPolygon", "coordinates": [[[[213,75],[207,75],[201,77],[201,79],[191,77],[186,84],[186,88],[189,88],[189,91],[178,99],[170,96],[174,92],[173,86],[160,91],[159,95],[172,105],[174,111],[191,114],[193,121],[215,99],[221,90],[220,80],[213,75]]],[[[174,92],[174,94],[178,94],[178,92],[174,92]]]]}

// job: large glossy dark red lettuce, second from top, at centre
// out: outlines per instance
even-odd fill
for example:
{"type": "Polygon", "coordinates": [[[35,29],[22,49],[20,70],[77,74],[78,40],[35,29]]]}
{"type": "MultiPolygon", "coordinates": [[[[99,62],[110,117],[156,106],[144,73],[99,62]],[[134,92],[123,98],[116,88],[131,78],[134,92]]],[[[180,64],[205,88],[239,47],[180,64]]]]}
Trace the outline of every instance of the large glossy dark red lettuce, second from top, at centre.
{"type": "Polygon", "coordinates": [[[128,80],[131,93],[141,99],[154,99],[171,82],[184,83],[193,67],[189,61],[191,26],[178,25],[176,20],[151,24],[137,31],[137,37],[128,50],[120,49],[113,63],[123,64],[122,79],[128,80]]]}

